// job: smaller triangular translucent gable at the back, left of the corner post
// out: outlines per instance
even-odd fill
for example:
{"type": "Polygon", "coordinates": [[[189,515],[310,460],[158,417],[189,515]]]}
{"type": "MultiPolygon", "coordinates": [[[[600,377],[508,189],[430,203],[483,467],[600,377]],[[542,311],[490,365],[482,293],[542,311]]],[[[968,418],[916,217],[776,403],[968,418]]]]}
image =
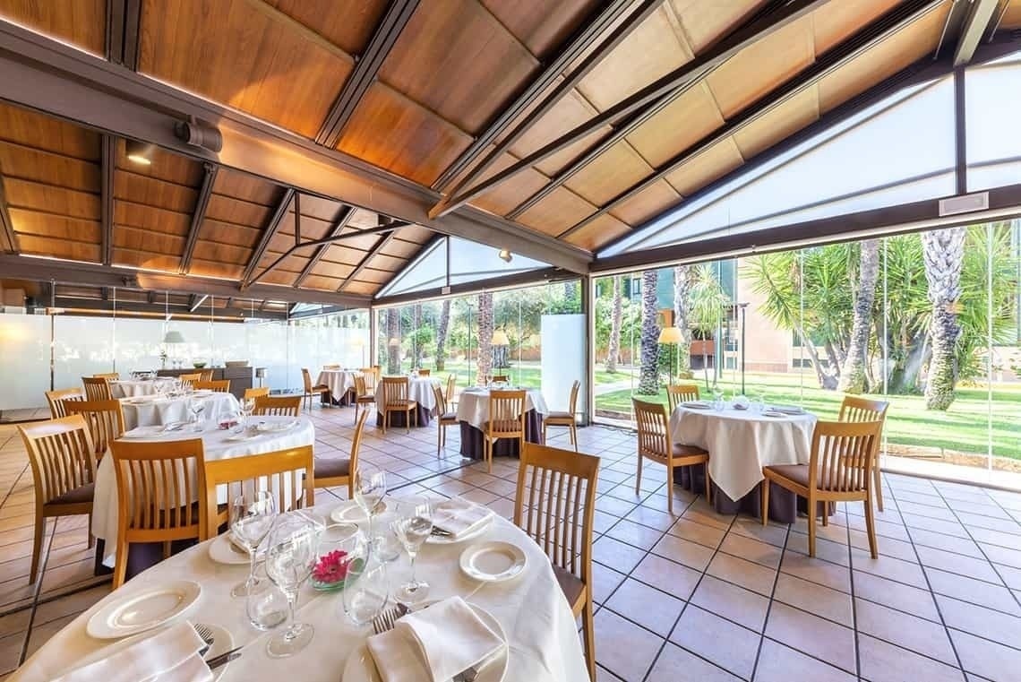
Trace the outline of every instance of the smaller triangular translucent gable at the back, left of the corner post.
{"type": "Polygon", "coordinates": [[[500,258],[499,249],[459,237],[444,237],[411,261],[377,297],[408,294],[447,284],[481,282],[549,267],[549,263],[517,253],[510,261],[500,258]],[[449,248],[450,272],[447,272],[449,248]]]}

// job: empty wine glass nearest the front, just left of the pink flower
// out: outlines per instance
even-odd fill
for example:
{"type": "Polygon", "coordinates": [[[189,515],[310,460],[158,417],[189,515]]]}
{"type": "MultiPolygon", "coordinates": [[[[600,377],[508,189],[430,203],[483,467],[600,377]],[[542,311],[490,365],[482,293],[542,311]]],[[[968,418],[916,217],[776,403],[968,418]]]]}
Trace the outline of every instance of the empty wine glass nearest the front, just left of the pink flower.
{"type": "Polygon", "coordinates": [[[287,595],[287,629],[265,643],[272,659],[297,653],[312,639],[314,628],[308,623],[295,623],[294,612],[298,588],[312,574],[319,559],[319,529],[303,517],[281,520],[270,534],[265,552],[265,573],[270,580],[287,595]]]}

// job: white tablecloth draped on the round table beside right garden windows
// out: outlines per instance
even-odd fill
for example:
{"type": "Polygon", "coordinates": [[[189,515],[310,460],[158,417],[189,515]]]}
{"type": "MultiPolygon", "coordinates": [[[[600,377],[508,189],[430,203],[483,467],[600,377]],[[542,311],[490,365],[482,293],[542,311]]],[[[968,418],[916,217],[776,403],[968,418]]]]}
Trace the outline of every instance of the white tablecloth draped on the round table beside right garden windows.
{"type": "Polygon", "coordinates": [[[709,450],[710,476],[737,500],[763,480],[763,467],[807,465],[815,415],[765,417],[750,409],[692,409],[678,405],[670,418],[675,443],[709,450]]]}

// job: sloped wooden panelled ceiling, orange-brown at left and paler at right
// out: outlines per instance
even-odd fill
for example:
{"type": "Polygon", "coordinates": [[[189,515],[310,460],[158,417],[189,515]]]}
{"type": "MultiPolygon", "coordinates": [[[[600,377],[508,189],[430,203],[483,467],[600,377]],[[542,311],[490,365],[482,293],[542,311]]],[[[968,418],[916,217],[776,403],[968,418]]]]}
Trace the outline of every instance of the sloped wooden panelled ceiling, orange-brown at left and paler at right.
{"type": "MultiPolygon", "coordinates": [[[[439,190],[438,214],[470,203],[588,251],[953,49],[958,11],[953,0],[140,0],[132,15],[134,4],[0,0],[0,17],[439,190]],[[107,23],[125,16],[117,52],[107,23]],[[667,78],[680,80],[631,106],[667,78]]],[[[993,14],[1021,26],[1021,0],[993,14]]],[[[386,218],[343,196],[166,151],[138,166],[121,139],[9,105],[0,174],[27,254],[373,295],[434,237],[373,231],[386,218]]]]}

